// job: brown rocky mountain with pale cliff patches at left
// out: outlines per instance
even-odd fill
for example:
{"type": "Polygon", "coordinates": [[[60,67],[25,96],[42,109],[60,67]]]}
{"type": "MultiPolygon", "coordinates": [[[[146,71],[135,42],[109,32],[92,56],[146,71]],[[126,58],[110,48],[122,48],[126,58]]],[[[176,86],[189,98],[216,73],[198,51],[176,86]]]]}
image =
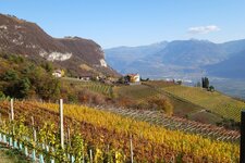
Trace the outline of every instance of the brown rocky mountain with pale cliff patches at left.
{"type": "Polygon", "coordinates": [[[101,47],[93,40],[53,38],[37,24],[0,14],[0,52],[50,61],[73,75],[119,75],[105,61],[101,47]]]}

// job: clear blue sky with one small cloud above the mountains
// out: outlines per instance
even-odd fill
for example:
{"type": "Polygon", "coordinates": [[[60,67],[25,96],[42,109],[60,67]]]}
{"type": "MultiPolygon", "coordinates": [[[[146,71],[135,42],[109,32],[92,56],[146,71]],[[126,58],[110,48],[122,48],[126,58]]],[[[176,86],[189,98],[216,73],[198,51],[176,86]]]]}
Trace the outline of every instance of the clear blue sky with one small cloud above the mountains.
{"type": "Polygon", "coordinates": [[[103,49],[245,38],[245,0],[0,0],[0,13],[35,22],[56,38],[93,39],[103,49]]]}

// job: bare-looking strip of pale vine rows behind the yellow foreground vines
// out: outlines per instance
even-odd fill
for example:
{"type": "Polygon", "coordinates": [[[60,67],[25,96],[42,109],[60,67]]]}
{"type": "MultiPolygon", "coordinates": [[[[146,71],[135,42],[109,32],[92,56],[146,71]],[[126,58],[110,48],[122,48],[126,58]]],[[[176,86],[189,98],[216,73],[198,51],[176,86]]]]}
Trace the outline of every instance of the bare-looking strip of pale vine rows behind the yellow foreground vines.
{"type": "Polygon", "coordinates": [[[240,141],[240,133],[236,130],[224,129],[210,124],[203,124],[176,116],[167,116],[159,111],[130,110],[120,108],[97,108],[102,111],[109,111],[126,117],[148,122],[171,130],[181,130],[187,134],[200,135],[213,140],[240,141]]]}

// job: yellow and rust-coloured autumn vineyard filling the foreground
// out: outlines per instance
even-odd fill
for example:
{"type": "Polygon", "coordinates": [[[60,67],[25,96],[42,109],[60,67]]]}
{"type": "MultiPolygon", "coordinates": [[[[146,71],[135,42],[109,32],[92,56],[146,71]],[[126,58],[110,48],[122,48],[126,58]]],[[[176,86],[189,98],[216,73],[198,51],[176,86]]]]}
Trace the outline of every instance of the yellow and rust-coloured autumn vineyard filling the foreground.
{"type": "MultiPolygon", "coordinates": [[[[45,153],[45,160],[119,163],[128,162],[133,158],[135,162],[223,163],[238,162],[240,158],[237,143],[204,138],[187,134],[184,129],[170,130],[144,120],[132,118],[139,112],[125,111],[124,115],[131,115],[127,117],[105,110],[64,104],[64,148],[59,146],[58,104],[16,101],[15,118],[9,121],[10,102],[1,101],[0,112],[1,133],[17,140],[23,148],[28,146],[38,154],[45,153]],[[33,141],[32,130],[35,129],[38,133],[37,141],[33,141]]],[[[161,123],[168,126],[168,121],[161,123]]]]}

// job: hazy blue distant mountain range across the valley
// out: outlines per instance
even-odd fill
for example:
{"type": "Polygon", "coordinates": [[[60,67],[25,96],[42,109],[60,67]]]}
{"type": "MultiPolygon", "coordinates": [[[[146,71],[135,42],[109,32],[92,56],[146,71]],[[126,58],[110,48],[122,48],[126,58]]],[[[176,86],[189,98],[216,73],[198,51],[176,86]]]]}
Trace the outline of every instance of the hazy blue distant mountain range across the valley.
{"type": "Polygon", "coordinates": [[[144,54],[144,49],[140,47],[106,49],[106,58],[108,63],[113,65],[124,55],[128,55],[131,57],[128,61],[121,61],[121,64],[117,64],[114,68],[121,73],[137,72],[145,77],[192,79],[212,75],[224,78],[245,78],[243,71],[245,66],[243,64],[235,65],[235,63],[245,62],[243,55],[245,39],[224,43],[196,39],[163,42],[163,46],[157,49],[146,46],[151,50],[146,52],[147,54],[144,54]],[[126,54],[124,53],[125,49],[126,54]],[[135,54],[134,49],[140,51],[142,54],[135,54]],[[238,71],[240,74],[234,75],[232,73],[234,71],[238,71]]]}

